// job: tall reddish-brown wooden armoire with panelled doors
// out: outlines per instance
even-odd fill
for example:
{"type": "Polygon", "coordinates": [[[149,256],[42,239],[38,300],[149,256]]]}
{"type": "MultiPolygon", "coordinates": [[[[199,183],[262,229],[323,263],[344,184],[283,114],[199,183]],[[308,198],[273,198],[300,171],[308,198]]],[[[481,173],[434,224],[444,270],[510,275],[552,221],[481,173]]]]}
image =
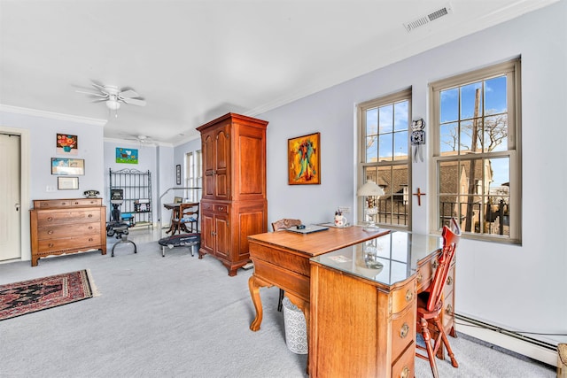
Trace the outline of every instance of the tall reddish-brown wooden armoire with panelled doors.
{"type": "Polygon", "coordinates": [[[250,262],[248,235],[268,231],[267,127],[235,113],[197,127],[204,175],[198,258],[218,258],[230,276],[250,262]]]}

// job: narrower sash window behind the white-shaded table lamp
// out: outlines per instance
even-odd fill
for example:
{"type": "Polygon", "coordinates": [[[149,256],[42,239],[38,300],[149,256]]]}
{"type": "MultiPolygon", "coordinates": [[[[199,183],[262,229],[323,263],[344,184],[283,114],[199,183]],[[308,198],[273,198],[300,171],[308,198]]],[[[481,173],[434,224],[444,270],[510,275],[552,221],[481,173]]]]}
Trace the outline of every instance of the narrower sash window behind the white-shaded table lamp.
{"type": "Polygon", "coordinates": [[[371,180],[384,190],[384,196],[358,198],[359,221],[410,228],[410,114],[411,89],[358,105],[358,187],[371,180]],[[377,207],[376,215],[366,213],[369,206],[377,207]]]}

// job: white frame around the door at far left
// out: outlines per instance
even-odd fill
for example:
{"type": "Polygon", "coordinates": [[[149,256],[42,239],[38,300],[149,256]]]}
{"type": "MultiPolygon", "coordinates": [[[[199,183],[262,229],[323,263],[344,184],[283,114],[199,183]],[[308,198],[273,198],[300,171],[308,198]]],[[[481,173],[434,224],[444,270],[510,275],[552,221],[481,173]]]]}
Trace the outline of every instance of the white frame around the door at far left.
{"type": "Polygon", "coordinates": [[[19,198],[21,212],[20,229],[21,229],[21,259],[30,260],[31,246],[29,241],[29,209],[31,200],[29,198],[29,130],[25,128],[13,128],[0,126],[0,133],[19,135],[19,162],[20,162],[20,182],[19,182],[19,198]]]}

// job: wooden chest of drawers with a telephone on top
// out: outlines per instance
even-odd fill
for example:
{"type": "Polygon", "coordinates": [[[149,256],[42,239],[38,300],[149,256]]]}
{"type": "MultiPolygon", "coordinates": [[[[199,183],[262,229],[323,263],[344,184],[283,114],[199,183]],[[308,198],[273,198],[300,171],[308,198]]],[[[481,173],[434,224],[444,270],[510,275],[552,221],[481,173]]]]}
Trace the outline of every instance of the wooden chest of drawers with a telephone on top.
{"type": "Polygon", "coordinates": [[[39,258],[79,251],[106,254],[102,198],[38,199],[30,210],[32,266],[39,258]]]}

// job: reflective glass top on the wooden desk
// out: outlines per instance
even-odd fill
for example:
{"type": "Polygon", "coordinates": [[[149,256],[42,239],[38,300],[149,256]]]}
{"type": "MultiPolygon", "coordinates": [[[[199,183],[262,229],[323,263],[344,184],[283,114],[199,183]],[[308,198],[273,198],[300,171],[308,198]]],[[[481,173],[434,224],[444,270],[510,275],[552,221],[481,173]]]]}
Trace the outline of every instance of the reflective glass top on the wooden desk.
{"type": "Polygon", "coordinates": [[[417,262],[439,250],[442,243],[438,235],[392,231],[311,260],[322,266],[392,285],[407,280],[416,272],[417,262]]]}

